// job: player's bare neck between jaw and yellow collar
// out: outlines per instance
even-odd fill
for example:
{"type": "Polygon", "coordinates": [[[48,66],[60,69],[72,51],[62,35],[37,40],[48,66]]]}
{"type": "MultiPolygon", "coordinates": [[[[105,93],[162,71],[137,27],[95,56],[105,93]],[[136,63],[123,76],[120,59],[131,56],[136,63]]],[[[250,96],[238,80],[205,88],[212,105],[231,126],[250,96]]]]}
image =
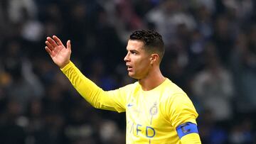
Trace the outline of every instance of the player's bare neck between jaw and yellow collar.
{"type": "Polygon", "coordinates": [[[161,71],[158,68],[149,72],[149,74],[147,74],[143,79],[139,79],[139,84],[142,86],[144,91],[149,91],[158,87],[165,79],[166,77],[161,74],[161,71]]]}

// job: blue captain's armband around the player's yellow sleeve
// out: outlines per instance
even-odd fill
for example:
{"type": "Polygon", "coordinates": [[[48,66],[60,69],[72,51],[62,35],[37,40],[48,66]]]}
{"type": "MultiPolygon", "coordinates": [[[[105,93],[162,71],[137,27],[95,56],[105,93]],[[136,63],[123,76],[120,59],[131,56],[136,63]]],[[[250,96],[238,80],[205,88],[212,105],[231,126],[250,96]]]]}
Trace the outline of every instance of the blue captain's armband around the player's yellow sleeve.
{"type": "Polygon", "coordinates": [[[198,133],[198,128],[195,123],[187,122],[177,126],[176,131],[178,133],[178,138],[182,138],[184,135],[189,133],[198,133]]]}

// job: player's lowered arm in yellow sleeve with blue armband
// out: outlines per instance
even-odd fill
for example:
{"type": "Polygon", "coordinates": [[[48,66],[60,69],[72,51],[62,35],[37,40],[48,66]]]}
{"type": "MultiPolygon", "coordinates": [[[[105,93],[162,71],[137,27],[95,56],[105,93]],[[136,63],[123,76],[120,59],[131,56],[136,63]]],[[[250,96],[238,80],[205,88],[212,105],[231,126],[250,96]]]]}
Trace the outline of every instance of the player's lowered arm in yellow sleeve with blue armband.
{"type": "Polygon", "coordinates": [[[196,125],[198,113],[186,94],[174,94],[166,101],[168,120],[177,132],[181,143],[201,143],[196,125]]]}

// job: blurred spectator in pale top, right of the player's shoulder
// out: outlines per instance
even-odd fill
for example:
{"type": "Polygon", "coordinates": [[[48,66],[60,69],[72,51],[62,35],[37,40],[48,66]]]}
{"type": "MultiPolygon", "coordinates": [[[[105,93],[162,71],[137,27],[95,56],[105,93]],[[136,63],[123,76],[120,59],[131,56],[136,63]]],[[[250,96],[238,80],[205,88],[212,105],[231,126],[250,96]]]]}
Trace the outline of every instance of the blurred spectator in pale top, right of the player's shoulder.
{"type": "Polygon", "coordinates": [[[213,45],[206,48],[205,57],[206,67],[196,75],[193,92],[204,109],[212,111],[215,121],[230,120],[234,94],[232,75],[221,65],[213,45]]]}

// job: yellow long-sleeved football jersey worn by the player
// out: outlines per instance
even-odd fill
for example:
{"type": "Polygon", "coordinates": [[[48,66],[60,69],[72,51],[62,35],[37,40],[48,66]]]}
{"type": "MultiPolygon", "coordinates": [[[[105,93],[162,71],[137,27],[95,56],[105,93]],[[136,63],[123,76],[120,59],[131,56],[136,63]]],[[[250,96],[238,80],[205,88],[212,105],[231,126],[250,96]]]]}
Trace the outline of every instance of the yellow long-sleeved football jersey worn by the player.
{"type": "Polygon", "coordinates": [[[144,91],[139,82],[103,91],[73,62],[61,70],[95,108],[126,112],[127,144],[201,143],[197,131],[191,131],[195,129],[198,113],[186,93],[171,80],[166,79],[150,91],[144,91]]]}

